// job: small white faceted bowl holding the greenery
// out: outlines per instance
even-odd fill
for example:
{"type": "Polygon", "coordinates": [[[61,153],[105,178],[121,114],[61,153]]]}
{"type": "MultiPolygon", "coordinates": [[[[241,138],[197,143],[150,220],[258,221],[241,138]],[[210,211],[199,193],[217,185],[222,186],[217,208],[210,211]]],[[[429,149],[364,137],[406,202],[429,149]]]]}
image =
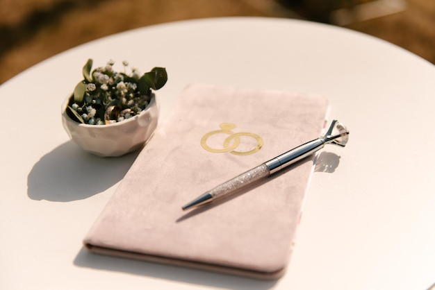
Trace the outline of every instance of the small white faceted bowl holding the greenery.
{"type": "Polygon", "coordinates": [[[151,95],[148,107],[130,119],[108,125],[78,123],[66,113],[68,101],[62,105],[62,123],[69,138],[83,150],[101,157],[116,157],[138,150],[154,133],[158,123],[156,96],[151,95]]]}

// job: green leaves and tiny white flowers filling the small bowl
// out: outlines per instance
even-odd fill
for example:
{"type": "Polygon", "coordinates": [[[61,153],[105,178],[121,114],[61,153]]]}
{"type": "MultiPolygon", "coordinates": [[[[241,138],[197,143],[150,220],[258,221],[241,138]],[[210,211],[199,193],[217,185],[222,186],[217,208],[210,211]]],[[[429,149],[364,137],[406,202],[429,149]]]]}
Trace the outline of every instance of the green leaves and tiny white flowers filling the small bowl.
{"type": "Polygon", "coordinates": [[[92,59],[83,66],[83,80],[74,89],[66,108],[70,118],[79,123],[104,125],[134,117],[147,108],[151,90],[161,89],[167,82],[163,67],[154,67],[140,76],[137,69],[126,73],[113,70],[113,61],[91,72],[92,59]]]}

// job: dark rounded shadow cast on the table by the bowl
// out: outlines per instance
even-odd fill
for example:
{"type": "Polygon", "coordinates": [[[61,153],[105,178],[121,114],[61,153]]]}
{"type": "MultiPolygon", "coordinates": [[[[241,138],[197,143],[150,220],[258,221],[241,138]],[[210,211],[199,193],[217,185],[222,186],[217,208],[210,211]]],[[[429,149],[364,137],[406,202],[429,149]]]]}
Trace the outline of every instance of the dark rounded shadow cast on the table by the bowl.
{"type": "Polygon", "coordinates": [[[35,201],[78,201],[120,181],[138,152],[103,158],[66,142],[44,155],[27,177],[28,197],[35,201]]]}

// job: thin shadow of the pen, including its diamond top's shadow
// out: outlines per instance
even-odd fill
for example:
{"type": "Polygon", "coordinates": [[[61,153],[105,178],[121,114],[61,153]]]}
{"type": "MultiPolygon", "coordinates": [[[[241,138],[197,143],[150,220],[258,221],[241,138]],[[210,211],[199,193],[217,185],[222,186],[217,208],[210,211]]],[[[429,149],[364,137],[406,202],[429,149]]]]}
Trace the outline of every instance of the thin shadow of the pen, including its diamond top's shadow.
{"type": "Polygon", "coordinates": [[[234,194],[231,194],[231,196],[227,196],[225,198],[217,199],[213,201],[213,203],[208,203],[206,205],[202,205],[200,207],[196,207],[183,216],[181,216],[179,219],[177,219],[177,223],[180,223],[181,221],[185,221],[186,219],[189,219],[192,216],[196,216],[197,214],[201,214],[202,212],[205,212],[206,210],[211,210],[214,207],[218,207],[222,205],[222,203],[227,203],[234,198],[237,198],[238,196],[247,193],[248,191],[259,187],[263,185],[265,182],[269,182],[270,180],[273,180],[274,178],[278,178],[279,176],[285,174],[286,172],[294,169],[295,167],[299,167],[300,165],[306,163],[306,162],[315,162],[314,171],[315,172],[325,172],[325,173],[334,173],[336,168],[338,167],[338,164],[340,164],[340,156],[336,155],[335,153],[331,152],[322,152],[320,155],[313,157],[309,156],[304,158],[303,160],[300,160],[299,162],[296,162],[293,165],[290,165],[289,167],[285,168],[284,170],[281,170],[277,173],[272,174],[270,177],[258,180],[257,182],[252,183],[252,185],[249,185],[245,187],[244,189],[241,189],[239,191],[236,191],[234,194]]]}

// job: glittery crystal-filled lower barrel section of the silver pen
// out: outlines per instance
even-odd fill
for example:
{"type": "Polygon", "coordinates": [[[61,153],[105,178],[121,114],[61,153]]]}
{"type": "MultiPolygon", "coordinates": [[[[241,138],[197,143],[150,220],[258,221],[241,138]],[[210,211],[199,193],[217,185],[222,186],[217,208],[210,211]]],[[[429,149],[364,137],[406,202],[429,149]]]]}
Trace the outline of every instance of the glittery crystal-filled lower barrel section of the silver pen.
{"type": "Polygon", "coordinates": [[[221,185],[217,185],[217,187],[208,191],[208,194],[211,194],[213,199],[222,198],[229,194],[233,194],[235,191],[243,189],[248,185],[252,185],[252,183],[268,177],[269,175],[269,168],[263,163],[258,165],[258,167],[255,167],[249,171],[246,171],[245,173],[240,174],[239,176],[236,176],[235,178],[228,180],[227,182],[222,183],[221,185]]]}

